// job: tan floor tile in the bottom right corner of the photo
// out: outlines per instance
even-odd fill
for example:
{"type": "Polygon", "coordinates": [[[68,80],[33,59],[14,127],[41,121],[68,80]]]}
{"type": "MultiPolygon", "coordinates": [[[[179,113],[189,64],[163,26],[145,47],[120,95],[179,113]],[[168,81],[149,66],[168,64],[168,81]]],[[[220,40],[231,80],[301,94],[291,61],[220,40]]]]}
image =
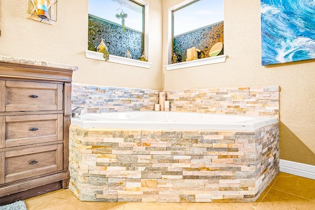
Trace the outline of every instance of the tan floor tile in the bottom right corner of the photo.
{"type": "Polygon", "coordinates": [[[271,189],[256,210],[315,210],[315,201],[271,189]]]}

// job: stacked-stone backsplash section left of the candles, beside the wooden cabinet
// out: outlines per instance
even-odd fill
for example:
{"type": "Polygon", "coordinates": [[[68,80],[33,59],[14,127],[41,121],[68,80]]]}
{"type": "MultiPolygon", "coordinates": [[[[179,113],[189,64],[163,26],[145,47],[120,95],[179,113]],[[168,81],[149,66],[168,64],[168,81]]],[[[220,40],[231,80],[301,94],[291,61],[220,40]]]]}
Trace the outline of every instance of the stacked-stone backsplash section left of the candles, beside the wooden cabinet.
{"type": "Polygon", "coordinates": [[[71,106],[87,111],[129,112],[154,110],[159,90],[72,84],[71,106]]]}

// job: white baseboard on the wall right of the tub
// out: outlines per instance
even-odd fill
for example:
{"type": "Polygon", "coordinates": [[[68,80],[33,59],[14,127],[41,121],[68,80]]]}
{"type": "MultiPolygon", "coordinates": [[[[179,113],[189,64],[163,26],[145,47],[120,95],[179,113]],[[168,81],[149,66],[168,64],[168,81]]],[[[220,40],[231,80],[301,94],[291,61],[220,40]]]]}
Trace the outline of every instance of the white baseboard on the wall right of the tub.
{"type": "Polygon", "coordinates": [[[315,166],[280,159],[280,172],[315,180],[315,166]]]}

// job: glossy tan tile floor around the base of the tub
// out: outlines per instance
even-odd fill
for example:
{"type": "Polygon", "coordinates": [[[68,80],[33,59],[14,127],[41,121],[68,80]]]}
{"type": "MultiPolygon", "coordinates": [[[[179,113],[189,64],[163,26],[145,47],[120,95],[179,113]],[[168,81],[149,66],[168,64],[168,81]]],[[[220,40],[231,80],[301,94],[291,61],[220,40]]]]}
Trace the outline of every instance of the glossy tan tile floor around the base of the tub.
{"type": "Polygon", "coordinates": [[[315,180],[279,173],[252,203],[81,202],[69,189],[25,200],[28,210],[315,210],[315,180]]]}

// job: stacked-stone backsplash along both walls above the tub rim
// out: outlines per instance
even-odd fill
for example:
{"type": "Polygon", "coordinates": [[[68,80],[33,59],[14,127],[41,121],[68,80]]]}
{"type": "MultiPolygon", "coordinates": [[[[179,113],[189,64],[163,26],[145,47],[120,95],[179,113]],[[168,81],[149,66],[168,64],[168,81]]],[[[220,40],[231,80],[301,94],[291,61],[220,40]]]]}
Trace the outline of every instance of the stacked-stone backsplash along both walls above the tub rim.
{"type": "MultiPolygon", "coordinates": [[[[279,86],[164,90],[171,111],[279,118],[279,86]]],[[[72,84],[72,108],[88,112],[154,110],[159,90],[72,84]]]]}

